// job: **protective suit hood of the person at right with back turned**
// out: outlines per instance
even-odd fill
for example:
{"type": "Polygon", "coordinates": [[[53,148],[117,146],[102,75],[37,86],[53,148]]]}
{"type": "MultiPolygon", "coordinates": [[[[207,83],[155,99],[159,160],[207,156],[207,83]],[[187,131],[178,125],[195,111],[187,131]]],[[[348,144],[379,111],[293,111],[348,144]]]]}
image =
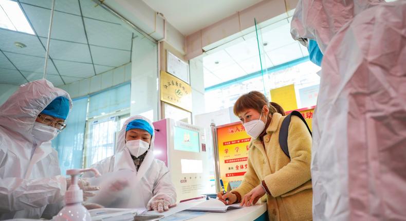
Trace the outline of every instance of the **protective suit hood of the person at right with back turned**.
{"type": "Polygon", "coordinates": [[[383,0],[304,0],[294,11],[290,33],[294,40],[316,40],[324,53],[331,38],[354,17],[383,0]]]}

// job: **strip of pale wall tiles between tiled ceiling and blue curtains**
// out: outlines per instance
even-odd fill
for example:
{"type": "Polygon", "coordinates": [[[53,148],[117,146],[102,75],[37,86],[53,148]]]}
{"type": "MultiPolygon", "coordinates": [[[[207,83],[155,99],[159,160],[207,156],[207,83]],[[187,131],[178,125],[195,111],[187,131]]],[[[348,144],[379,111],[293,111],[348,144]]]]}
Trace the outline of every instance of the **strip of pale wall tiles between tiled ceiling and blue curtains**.
{"type": "Polygon", "coordinates": [[[59,86],[69,93],[71,98],[93,94],[118,84],[131,81],[131,63],[100,73],[91,78],[59,86]]]}

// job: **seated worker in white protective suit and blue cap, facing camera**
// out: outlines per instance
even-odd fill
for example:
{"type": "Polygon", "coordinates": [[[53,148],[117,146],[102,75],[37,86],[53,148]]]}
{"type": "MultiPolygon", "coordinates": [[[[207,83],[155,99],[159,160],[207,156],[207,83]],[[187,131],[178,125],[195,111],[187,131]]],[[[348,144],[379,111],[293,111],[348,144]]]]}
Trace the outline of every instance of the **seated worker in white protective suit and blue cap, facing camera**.
{"type": "MultiPolygon", "coordinates": [[[[175,206],[176,193],[169,177],[169,170],[165,163],[154,158],[154,125],[150,120],[142,116],[128,118],[118,135],[116,154],[101,160],[92,168],[96,168],[100,174],[117,172],[128,169],[134,172],[135,177],[122,181],[122,187],[126,182],[131,182],[133,188],[128,197],[135,208],[145,207],[148,210],[163,212],[175,206]]],[[[85,173],[83,177],[91,177],[93,174],[85,173]]],[[[113,186],[120,186],[115,183],[113,186]]]]}

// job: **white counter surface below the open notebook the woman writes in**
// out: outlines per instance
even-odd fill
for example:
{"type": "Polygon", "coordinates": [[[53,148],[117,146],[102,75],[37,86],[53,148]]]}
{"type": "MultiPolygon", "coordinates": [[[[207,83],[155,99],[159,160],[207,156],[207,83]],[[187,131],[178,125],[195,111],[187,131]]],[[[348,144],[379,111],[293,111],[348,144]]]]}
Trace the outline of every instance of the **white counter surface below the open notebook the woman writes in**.
{"type": "Polygon", "coordinates": [[[266,203],[257,202],[254,206],[242,209],[231,209],[225,213],[208,213],[193,219],[193,221],[247,221],[260,217],[267,210],[266,203]]]}

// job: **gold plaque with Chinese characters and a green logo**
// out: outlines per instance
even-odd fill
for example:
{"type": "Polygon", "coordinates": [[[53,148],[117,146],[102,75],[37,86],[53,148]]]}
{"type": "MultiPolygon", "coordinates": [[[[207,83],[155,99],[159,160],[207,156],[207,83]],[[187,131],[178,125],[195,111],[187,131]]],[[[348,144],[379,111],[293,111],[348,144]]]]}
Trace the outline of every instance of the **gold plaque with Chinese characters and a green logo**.
{"type": "Polygon", "coordinates": [[[192,88],[189,84],[161,71],[161,101],[192,111],[192,88]]]}

